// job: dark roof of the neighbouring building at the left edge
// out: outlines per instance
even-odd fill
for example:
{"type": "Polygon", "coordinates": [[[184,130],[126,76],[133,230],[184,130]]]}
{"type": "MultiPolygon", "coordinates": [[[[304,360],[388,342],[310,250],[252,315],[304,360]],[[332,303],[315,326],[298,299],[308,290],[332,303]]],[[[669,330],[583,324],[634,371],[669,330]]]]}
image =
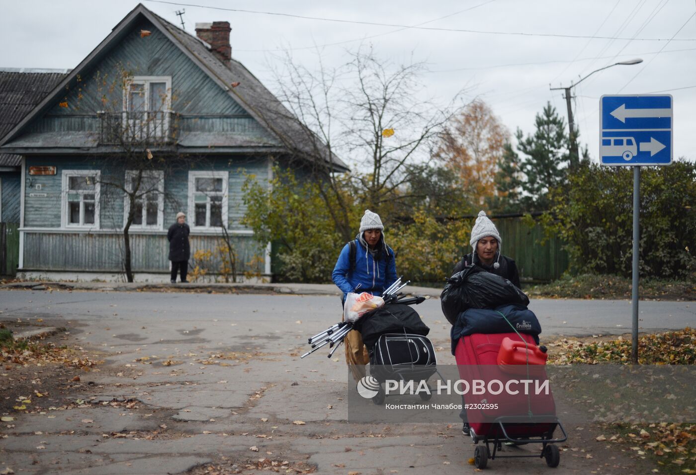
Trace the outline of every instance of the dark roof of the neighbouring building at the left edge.
{"type": "MultiPolygon", "coordinates": [[[[54,90],[68,70],[0,69],[0,137],[12,130],[54,90]]],[[[19,166],[22,157],[0,154],[0,166],[19,166]]]]}

